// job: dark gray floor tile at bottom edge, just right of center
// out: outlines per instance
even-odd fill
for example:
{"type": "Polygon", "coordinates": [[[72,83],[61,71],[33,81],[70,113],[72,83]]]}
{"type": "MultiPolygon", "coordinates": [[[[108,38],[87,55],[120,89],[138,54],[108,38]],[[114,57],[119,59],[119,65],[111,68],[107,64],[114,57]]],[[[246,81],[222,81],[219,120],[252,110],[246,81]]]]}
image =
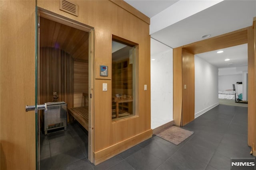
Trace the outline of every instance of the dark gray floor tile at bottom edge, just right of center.
{"type": "Polygon", "coordinates": [[[153,154],[145,152],[144,149],[132,154],[125,160],[136,170],[155,170],[164,162],[153,154]]]}

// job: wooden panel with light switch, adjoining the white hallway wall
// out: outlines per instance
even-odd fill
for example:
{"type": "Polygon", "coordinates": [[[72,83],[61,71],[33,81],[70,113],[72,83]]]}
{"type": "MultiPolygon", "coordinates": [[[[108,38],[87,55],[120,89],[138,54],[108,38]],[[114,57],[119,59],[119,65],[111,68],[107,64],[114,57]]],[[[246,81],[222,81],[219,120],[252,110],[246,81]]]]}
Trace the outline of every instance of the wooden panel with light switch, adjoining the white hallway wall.
{"type": "Polygon", "coordinates": [[[182,124],[195,117],[195,64],[194,54],[182,49],[182,124]],[[186,85],[186,89],[185,86],[186,85]]]}

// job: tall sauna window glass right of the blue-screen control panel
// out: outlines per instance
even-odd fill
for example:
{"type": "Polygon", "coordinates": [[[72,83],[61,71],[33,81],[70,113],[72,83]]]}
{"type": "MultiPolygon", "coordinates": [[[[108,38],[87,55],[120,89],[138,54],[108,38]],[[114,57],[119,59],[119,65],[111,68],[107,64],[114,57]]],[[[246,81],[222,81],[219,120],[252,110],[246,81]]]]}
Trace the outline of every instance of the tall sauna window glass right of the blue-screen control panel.
{"type": "Polygon", "coordinates": [[[135,114],[135,46],[126,44],[112,41],[112,120],[135,114]]]}

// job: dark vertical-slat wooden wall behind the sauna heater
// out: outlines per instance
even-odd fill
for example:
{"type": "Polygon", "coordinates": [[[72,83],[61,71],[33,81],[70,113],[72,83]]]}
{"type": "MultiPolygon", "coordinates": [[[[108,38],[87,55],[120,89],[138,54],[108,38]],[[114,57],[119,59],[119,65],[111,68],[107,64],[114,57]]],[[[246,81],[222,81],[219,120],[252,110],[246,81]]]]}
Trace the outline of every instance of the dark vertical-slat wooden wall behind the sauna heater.
{"type": "Polygon", "coordinates": [[[73,107],[73,58],[60,49],[43,47],[39,64],[39,103],[66,102],[68,108],[73,107]],[[57,100],[53,92],[57,92],[57,100]]]}

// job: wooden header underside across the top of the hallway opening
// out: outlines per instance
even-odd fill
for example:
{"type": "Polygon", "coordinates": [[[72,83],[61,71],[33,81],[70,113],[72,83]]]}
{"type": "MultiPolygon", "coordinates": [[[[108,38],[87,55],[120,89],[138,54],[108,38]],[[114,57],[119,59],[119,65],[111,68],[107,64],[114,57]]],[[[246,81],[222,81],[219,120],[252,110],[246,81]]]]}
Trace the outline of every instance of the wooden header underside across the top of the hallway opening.
{"type": "Polygon", "coordinates": [[[247,43],[247,29],[248,27],[238,29],[230,33],[222,34],[202,41],[197,41],[182,47],[186,48],[193,54],[199,54],[245,44],[247,43]]]}

